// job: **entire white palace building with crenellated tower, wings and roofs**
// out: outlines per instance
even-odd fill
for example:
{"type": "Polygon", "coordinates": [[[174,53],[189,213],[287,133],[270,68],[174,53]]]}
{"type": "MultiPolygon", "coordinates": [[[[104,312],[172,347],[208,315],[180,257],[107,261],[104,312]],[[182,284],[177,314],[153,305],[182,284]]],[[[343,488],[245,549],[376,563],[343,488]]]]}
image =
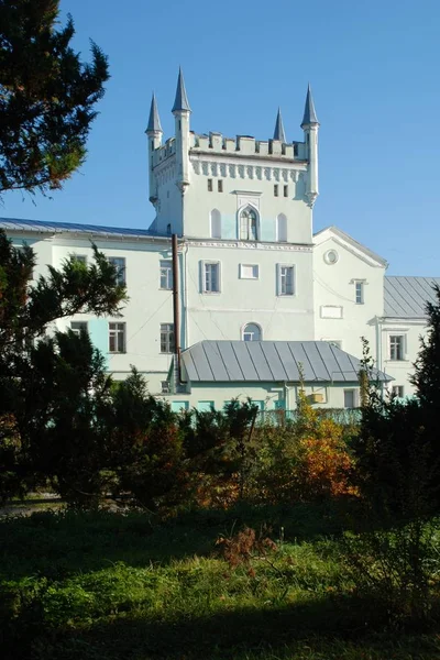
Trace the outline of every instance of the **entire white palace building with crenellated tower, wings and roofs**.
{"type": "Polygon", "coordinates": [[[319,122],[310,88],[296,142],[286,141],[279,111],[272,140],[195,133],[182,72],[173,114],[175,134],[164,141],[153,97],[150,229],[0,220],[14,244],[35,250],[35,275],[72,254],[90,260],[91,242],[119,267],[130,297],[121,318],[81,315],[57,327],[87,329],[116,378],[135,365],[174,409],[221,408],[234,396],[293,409],[299,369],[315,405],[355,407],[361,337],[384,386],[410,395],[426,301],[440,278],[387,277],[387,262],[338,228],[314,234],[319,122]]]}

